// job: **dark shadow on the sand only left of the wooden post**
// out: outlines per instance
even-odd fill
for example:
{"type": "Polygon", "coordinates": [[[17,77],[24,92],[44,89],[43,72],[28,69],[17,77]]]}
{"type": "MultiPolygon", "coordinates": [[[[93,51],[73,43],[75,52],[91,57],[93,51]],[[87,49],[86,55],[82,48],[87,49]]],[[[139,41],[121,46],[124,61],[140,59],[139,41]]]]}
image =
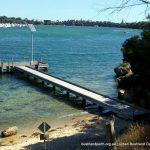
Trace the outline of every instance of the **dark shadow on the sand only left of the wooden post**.
{"type": "MultiPolygon", "coordinates": [[[[106,142],[104,132],[105,120],[99,120],[97,117],[90,120],[90,124],[85,124],[84,120],[80,123],[77,122],[73,127],[80,126],[79,133],[71,136],[64,136],[55,139],[49,139],[46,142],[47,150],[99,150],[105,149],[104,146],[86,146],[86,143],[101,143],[106,142]]],[[[51,136],[51,132],[49,132],[51,136]]],[[[24,147],[29,150],[42,150],[44,149],[43,142],[24,147]]]]}

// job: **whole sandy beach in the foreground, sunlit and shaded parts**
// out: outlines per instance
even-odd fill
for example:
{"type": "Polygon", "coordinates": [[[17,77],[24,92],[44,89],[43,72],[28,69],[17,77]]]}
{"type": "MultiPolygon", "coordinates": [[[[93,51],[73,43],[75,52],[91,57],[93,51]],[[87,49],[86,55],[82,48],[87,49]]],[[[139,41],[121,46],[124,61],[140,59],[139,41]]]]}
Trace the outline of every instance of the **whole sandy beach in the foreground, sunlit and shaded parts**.
{"type": "MultiPolygon", "coordinates": [[[[61,124],[52,126],[47,132],[49,140],[46,142],[48,150],[97,150],[105,146],[87,146],[86,143],[106,143],[105,123],[109,117],[96,114],[83,114],[71,117],[61,124]]],[[[128,127],[130,121],[116,118],[115,129],[118,135],[128,127]]],[[[43,141],[40,141],[40,131],[30,129],[15,136],[1,138],[0,150],[42,150],[43,141]]]]}

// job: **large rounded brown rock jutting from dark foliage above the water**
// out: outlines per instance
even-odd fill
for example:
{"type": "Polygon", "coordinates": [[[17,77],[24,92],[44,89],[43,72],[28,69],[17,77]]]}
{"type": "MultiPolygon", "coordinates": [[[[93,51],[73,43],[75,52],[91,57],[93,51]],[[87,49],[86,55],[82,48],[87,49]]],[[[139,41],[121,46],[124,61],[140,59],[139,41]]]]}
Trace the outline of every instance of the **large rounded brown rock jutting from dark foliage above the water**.
{"type": "Polygon", "coordinates": [[[114,69],[114,72],[117,76],[125,76],[126,74],[131,74],[131,66],[129,63],[120,64],[118,67],[114,69]]]}

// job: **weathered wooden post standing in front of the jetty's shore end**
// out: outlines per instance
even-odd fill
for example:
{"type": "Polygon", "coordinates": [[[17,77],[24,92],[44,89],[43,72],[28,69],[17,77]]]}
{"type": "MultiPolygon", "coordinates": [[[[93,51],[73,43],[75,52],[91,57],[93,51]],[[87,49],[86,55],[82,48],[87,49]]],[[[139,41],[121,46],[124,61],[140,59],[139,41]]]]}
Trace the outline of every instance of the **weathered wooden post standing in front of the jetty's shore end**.
{"type": "Polygon", "coordinates": [[[116,134],[115,134],[115,129],[114,129],[114,122],[115,122],[115,117],[112,116],[112,119],[109,122],[106,122],[106,136],[108,139],[108,142],[111,143],[111,150],[116,150],[116,134]]]}

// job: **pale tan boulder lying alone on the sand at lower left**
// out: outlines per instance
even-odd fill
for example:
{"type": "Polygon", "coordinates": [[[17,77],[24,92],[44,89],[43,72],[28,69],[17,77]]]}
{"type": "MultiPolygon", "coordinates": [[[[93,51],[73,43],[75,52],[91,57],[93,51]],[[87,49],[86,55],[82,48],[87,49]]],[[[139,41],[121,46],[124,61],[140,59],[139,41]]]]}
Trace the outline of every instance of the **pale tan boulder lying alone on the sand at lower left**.
{"type": "Polygon", "coordinates": [[[5,129],[4,131],[2,131],[2,137],[8,137],[8,136],[12,136],[12,135],[16,135],[18,132],[18,128],[16,126],[14,127],[9,127],[7,129],[5,129]]]}

